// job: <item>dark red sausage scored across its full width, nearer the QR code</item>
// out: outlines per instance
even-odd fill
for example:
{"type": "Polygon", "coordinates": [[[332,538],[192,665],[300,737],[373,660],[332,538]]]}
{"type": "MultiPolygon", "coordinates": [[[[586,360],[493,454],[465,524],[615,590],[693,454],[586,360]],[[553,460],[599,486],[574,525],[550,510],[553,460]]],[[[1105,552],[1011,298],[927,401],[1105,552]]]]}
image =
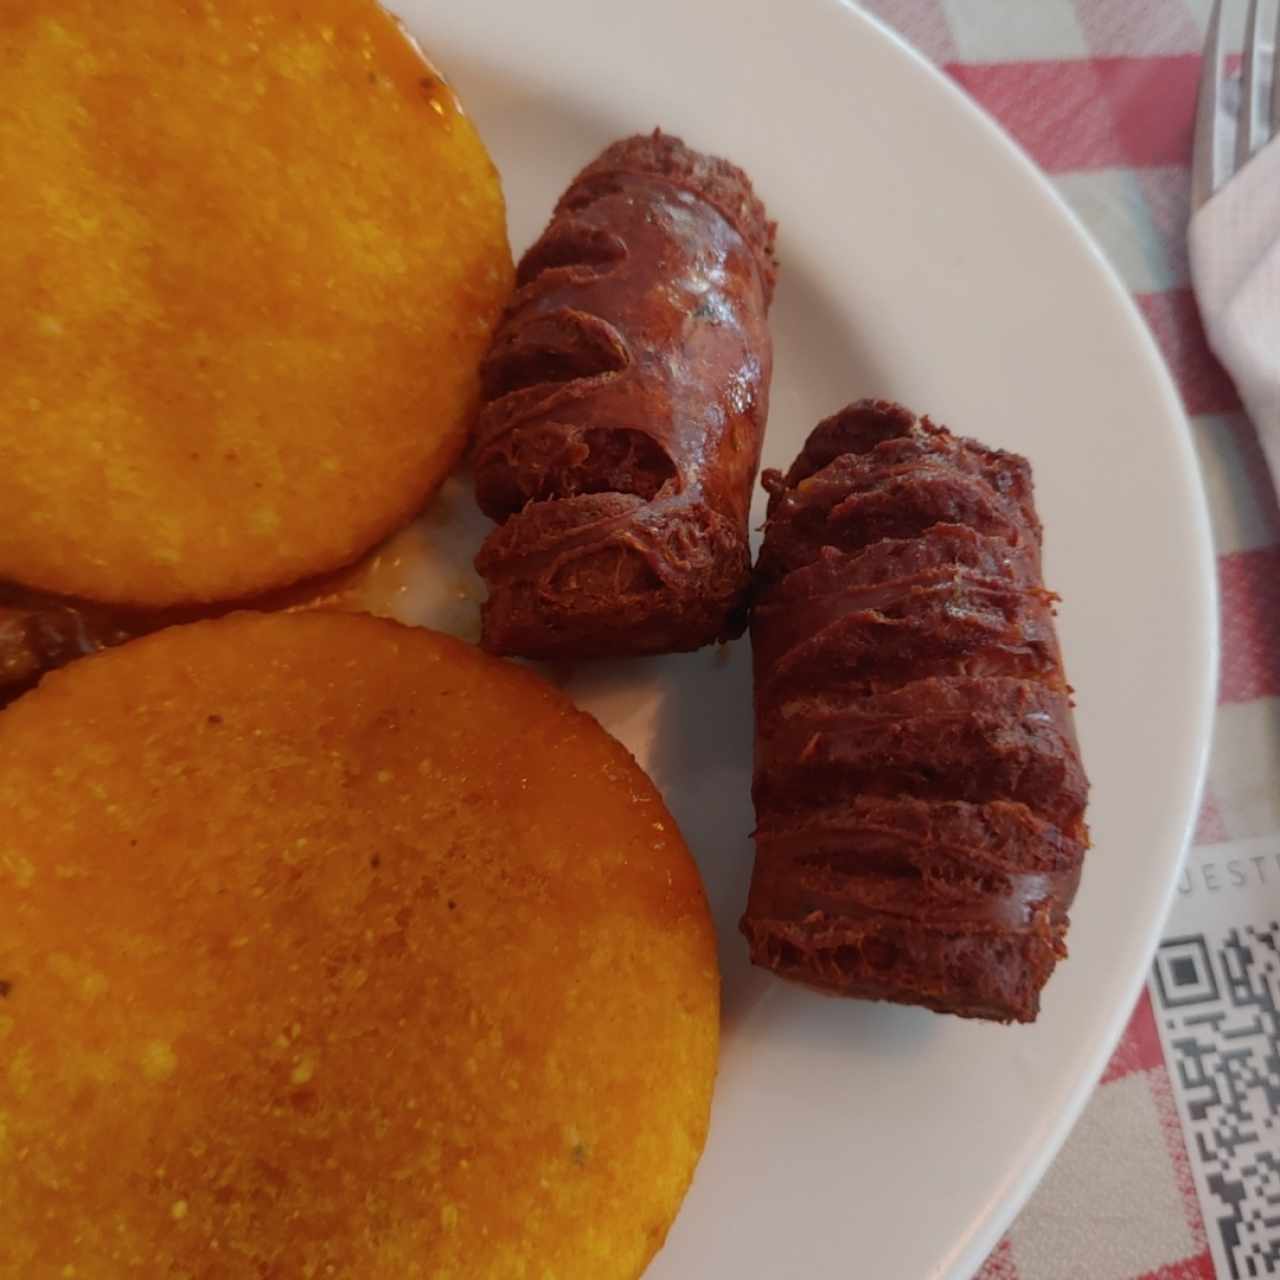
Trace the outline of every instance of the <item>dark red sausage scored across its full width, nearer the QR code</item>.
{"type": "Polygon", "coordinates": [[[764,484],[751,959],[1030,1021],[1089,842],[1030,468],[863,401],[764,484]]]}

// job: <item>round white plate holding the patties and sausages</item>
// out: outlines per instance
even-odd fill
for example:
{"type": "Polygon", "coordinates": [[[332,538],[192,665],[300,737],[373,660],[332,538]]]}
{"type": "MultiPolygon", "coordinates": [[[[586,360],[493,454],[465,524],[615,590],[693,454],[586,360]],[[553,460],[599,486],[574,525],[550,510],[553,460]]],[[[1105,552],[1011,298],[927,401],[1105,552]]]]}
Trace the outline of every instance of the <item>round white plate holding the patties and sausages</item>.
{"type": "MultiPolygon", "coordinates": [[[[1212,710],[1212,559],[1174,390],[1128,298],[1028,161],[923,60],[822,0],[392,0],[503,173],[517,252],[568,178],[655,124],[730,156],[777,218],[765,461],[859,396],[1027,453],[1078,689],[1096,847],[1032,1028],[823,1000],[746,964],[748,646],[567,681],[650,771],[721,931],[710,1142],[650,1280],[968,1275],[1033,1188],[1138,993],[1212,710]]],[[[760,513],[760,506],[756,513],[760,513]]],[[[474,627],[486,524],[454,483],[398,612],[474,627]],[[442,579],[436,577],[436,581],[442,579]],[[424,594],[425,593],[425,594],[424,594]]]]}

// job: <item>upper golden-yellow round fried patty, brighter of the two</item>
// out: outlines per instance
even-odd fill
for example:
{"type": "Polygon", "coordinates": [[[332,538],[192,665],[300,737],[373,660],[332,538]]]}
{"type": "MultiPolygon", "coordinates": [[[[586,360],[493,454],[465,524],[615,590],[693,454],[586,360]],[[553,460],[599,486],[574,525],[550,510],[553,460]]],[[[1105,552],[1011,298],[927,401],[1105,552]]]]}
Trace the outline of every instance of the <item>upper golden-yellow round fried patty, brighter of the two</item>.
{"type": "Polygon", "coordinates": [[[374,0],[3,5],[0,99],[0,579],[237,599],[421,506],[512,266],[374,0]]]}

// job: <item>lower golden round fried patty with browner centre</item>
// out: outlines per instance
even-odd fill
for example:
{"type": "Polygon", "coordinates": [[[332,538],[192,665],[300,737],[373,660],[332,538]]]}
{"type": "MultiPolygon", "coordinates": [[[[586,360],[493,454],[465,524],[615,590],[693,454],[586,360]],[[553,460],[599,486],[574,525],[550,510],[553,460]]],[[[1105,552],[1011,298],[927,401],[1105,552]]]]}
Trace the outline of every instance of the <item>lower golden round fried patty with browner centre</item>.
{"type": "Polygon", "coordinates": [[[614,1280],[707,1133],[652,783],[534,675],[241,613],[0,714],[0,1276],[614,1280]]]}

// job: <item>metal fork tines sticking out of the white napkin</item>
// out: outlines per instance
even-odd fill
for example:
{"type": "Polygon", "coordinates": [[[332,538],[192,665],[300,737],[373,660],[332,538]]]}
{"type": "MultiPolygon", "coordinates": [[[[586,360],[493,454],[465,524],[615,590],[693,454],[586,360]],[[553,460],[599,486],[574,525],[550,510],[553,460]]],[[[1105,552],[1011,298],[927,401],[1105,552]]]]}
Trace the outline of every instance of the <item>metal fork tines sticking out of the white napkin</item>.
{"type": "Polygon", "coordinates": [[[1271,51],[1270,104],[1262,101],[1262,78],[1258,74],[1262,51],[1262,10],[1258,0],[1249,0],[1244,55],[1240,67],[1240,100],[1234,129],[1226,90],[1230,81],[1222,67],[1222,0],[1213,0],[1204,38],[1201,67],[1199,100],[1196,105],[1196,147],[1192,155],[1192,210],[1199,209],[1210,196],[1238,173],[1265,142],[1280,133],[1280,13],[1271,51]],[[1221,104],[1221,105],[1220,105],[1221,104]],[[1220,128],[1225,120],[1228,127],[1220,128]],[[1234,133],[1234,146],[1231,134],[1234,133]]]}

